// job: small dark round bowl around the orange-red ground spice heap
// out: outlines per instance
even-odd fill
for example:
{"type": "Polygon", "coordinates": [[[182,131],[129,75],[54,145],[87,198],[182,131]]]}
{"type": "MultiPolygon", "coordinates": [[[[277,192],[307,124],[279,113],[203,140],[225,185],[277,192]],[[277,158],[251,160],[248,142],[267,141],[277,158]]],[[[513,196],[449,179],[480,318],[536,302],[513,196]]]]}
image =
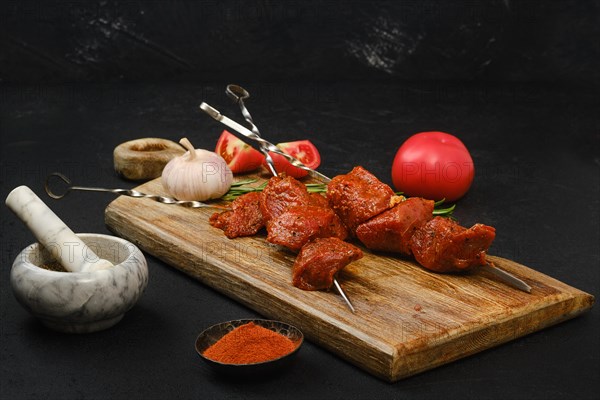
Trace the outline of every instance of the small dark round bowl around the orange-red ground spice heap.
{"type": "Polygon", "coordinates": [[[198,335],[196,339],[196,352],[208,365],[215,369],[215,371],[237,374],[237,375],[267,375],[270,373],[281,371],[283,367],[289,365],[295,358],[302,342],[304,341],[304,335],[302,332],[290,324],[285,322],[273,321],[267,319],[238,319],[233,321],[222,322],[220,324],[213,325],[198,335]],[[252,364],[227,364],[219,361],[211,360],[204,356],[204,352],[210,346],[215,344],[219,339],[231,332],[235,328],[241,325],[245,325],[249,322],[254,322],[256,325],[262,326],[263,328],[270,329],[280,335],[286,336],[294,344],[294,350],[286,355],[279,358],[275,358],[269,361],[263,361],[252,364]]]}

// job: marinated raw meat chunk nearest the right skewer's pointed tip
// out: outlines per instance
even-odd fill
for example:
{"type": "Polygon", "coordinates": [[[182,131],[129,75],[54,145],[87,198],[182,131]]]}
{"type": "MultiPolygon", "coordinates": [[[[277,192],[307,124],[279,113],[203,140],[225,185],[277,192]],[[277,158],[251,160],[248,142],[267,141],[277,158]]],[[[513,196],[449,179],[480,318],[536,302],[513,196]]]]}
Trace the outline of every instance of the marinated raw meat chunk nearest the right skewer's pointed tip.
{"type": "Polygon", "coordinates": [[[436,272],[465,271],[486,263],[488,248],[496,230],[475,224],[467,229],[442,217],[435,217],[418,228],[411,239],[415,259],[436,272]]]}

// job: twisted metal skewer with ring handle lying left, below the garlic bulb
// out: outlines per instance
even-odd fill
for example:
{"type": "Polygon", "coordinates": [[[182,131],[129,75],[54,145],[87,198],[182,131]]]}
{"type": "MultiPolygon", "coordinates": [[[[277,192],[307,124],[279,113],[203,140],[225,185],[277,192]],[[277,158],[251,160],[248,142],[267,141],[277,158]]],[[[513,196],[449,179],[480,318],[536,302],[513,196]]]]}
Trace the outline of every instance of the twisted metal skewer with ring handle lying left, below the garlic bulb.
{"type": "Polygon", "coordinates": [[[81,190],[81,191],[86,191],[86,192],[109,192],[109,193],[114,193],[114,194],[118,194],[118,195],[129,196],[129,197],[152,199],[152,200],[158,201],[159,203],[176,204],[178,206],[187,207],[187,208],[210,207],[210,208],[219,208],[221,210],[231,210],[231,208],[229,208],[229,207],[219,206],[216,204],[206,204],[206,203],[202,203],[200,201],[192,201],[192,200],[190,200],[190,201],[176,200],[171,197],[159,196],[156,194],[146,194],[146,193],[138,192],[137,190],[132,190],[132,189],[105,189],[105,188],[99,188],[99,187],[73,186],[73,185],[71,185],[71,180],[69,178],[67,178],[66,176],[64,176],[63,174],[61,174],[60,172],[53,172],[46,177],[46,182],[44,183],[44,189],[46,190],[46,193],[48,194],[48,196],[52,197],[53,199],[62,199],[72,190],[81,190]],[[65,182],[67,185],[69,185],[65,189],[64,193],[56,194],[55,192],[53,192],[50,189],[50,180],[54,177],[61,179],[63,182],[65,182]]]}

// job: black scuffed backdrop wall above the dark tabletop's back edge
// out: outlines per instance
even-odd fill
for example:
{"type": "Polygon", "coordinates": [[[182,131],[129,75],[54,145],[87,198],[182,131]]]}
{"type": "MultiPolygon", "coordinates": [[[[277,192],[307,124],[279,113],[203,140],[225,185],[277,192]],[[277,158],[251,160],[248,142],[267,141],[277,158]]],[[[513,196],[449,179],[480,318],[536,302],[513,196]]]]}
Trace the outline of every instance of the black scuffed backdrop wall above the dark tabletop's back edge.
{"type": "Polygon", "coordinates": [[[0,81],[598,85],[589,0],[9,0],[0,81]]]}

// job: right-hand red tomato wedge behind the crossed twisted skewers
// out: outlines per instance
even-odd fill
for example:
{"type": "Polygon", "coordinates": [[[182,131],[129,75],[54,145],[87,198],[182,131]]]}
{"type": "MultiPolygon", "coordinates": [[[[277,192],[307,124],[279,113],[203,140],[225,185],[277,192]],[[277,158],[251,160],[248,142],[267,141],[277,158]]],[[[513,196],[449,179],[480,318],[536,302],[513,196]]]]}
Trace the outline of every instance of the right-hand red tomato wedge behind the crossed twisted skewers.
{"type": "MultiPolygon", "coordinates": [[[[296,158],[302,164],[311,169],[316,169],[321,165],[321,155],[319,151],[309,140],[297,140],[295,142],[279,143],[276,145],[286,154],[296,158]]],[[[270,152],[275,169],[278,173],[285,173],[292,178],[302,178],[308,175],[308,171],[294,167],[284,156],[270,152]]],[[[266,160],[263,160],[263,166],[267,167],[266,160]]]]}

